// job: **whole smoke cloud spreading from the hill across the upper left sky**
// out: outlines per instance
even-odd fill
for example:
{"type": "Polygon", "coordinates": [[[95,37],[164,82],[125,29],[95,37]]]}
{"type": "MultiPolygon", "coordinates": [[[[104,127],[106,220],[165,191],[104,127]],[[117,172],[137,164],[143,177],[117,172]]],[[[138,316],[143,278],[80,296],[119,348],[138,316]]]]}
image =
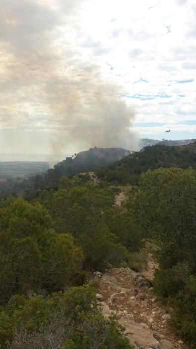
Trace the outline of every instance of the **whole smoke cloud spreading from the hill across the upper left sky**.
{"type": "Polygon", "coordinates": [[[91,1],[2,1],[4,147],[50,153],[50,162],[94,146],[136,150],[134,111],[120,98],[121,87],[102,71],[100,52],[109,48],[101,49],[99,41],[84,44],[87,32],[80,18],[91,1]],[[97,56],[86,53],[91,46],[97,56]],[[14,139],[10,129],[23,136],[14,139]]]}

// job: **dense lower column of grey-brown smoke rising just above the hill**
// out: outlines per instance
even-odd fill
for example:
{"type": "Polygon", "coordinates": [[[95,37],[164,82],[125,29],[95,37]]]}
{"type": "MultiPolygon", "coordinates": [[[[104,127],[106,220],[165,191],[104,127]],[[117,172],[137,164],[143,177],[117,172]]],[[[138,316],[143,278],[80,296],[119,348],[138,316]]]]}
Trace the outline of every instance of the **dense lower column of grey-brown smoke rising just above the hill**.
{"type": "MultiPolygon", "coordinates": [[[[71,146],[77,152],[91,147],[122,147],[137,150],[138,135],[131,129],[135,113],[120,98],[120,88],[101,80],[98,67],[64,76],[48,85],[49,115],[56,137],[51,157],[60,158],[71,146]],[[55,125],[54,125],[55,120],[55,125]]],[[[50,123],[49,123],[50,124],[50,123]]]]}

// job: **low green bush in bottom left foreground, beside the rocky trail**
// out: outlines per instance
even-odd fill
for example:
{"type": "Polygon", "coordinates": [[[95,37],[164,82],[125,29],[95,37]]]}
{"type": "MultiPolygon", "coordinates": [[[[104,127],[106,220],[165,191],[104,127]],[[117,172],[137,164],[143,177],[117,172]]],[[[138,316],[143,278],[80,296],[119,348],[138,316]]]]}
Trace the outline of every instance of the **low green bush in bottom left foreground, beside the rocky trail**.
{"type": "Polygon", "coordinates": [[[133,349],[123,328],[98,309],[88,285],[47,297],[13,297],[0,311],[2,349],[133,349]]]}

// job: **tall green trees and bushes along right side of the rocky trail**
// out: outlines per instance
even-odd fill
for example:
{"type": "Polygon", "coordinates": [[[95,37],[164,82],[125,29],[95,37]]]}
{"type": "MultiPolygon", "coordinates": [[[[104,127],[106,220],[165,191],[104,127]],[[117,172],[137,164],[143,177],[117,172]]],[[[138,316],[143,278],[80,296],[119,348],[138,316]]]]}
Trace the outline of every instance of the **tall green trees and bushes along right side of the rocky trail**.
{"type": "Polygon", "coordinates": [[[128,206],[159,246],[155,292],[173,308],[176,332],[196,348],[196,171],[142,174],[128,206]]]}

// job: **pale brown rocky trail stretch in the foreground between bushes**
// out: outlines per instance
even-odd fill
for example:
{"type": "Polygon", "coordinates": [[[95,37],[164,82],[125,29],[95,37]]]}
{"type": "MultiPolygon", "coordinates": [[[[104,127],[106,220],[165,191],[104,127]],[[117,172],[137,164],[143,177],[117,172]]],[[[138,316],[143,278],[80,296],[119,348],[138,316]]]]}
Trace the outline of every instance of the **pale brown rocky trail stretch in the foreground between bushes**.
{"type": "MultiPolygon", "coordinates": [[[[156,267],[149,259],[151,279],[156,267]]],[[[156,299],[147,278],[129,268],[111,269],[106,274],[94,273],[98,287],[98,304],[103,315],[116,314],[125,327],[130,344],[135,349],[189,349],[175,337],[169,326],[170,315],[156,299]]]]}

